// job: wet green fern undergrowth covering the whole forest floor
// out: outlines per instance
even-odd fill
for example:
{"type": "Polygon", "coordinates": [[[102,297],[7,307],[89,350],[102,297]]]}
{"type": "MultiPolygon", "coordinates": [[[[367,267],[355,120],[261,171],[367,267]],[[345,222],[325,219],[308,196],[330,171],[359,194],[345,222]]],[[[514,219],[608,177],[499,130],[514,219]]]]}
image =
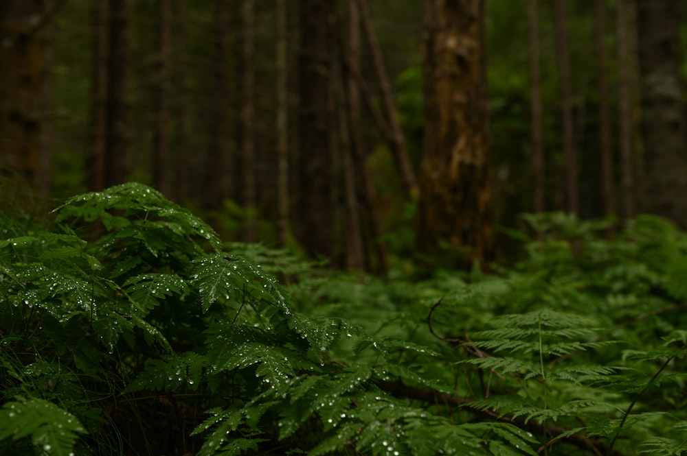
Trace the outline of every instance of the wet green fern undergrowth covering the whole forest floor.
{"type": "Polygon", "coordinates": [[[527,220],[517,265],[410,280],[224,244],[140,184],[3,217],[0,454],[687,451],[687,236],[527,220]]]}

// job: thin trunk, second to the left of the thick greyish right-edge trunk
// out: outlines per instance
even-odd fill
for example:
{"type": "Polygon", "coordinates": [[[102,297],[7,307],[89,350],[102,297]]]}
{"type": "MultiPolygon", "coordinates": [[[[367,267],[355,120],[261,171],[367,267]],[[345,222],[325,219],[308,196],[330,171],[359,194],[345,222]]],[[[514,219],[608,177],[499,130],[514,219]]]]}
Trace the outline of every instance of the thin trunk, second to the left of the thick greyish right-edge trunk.
{"type": "MultiPolygon", "coordinates": [[[[604,215],[617,212],[613,179],[613,149],[611,146],[611,106],[609,103],[608,65],[606,51],[606,1],[596,0],[596,61],[599,90],[599,149],[601,156],[601,189],[604,215]]],[[[609,232],[609,235],[612,233],[609,232]]]]}

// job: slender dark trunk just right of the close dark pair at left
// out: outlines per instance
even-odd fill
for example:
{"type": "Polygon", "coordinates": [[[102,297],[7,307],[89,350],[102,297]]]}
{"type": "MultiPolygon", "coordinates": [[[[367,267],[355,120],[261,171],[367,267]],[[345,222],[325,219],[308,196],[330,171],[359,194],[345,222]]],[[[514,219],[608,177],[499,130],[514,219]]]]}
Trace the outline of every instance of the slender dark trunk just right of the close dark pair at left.
{"type": "Polygon", "coordinates": [[[155,136],[153,149],[155,187],[170,197],[170,171],[172,160],[169,150],[170,123],[170,26],[172,22],[170,0],[157,0],[157,84],[155,87],[155,136]]]}

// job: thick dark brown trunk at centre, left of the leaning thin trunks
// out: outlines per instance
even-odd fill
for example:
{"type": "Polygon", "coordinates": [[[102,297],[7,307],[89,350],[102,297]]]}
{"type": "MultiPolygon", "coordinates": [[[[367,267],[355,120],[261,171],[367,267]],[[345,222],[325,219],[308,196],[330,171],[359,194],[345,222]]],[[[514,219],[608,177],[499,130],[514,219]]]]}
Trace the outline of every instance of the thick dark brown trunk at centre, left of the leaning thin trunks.
{"type": "Polygon", "coordinates": [[[334,173],[330,130],[331,43],[330,19],[336,8],[330,0],[303,0],[300,13],[299,153],[295,172],[293,227],[297,240],[310,254],[334,254],[334,173]]]}

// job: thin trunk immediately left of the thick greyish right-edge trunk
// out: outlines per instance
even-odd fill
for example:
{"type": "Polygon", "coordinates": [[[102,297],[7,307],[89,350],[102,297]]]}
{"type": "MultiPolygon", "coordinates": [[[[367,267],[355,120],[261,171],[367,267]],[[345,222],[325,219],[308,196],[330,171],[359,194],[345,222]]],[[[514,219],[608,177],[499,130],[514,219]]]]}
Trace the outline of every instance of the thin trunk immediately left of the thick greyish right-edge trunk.
{"type": "Polygon", "coordinates": [[[632,219],[636,215],[635,157],[633,146],[632,105],[632,16],[633,0],[618,0],[618,124],[620,125],[620,169],[622,175],[622,215],[632,219]]]}

